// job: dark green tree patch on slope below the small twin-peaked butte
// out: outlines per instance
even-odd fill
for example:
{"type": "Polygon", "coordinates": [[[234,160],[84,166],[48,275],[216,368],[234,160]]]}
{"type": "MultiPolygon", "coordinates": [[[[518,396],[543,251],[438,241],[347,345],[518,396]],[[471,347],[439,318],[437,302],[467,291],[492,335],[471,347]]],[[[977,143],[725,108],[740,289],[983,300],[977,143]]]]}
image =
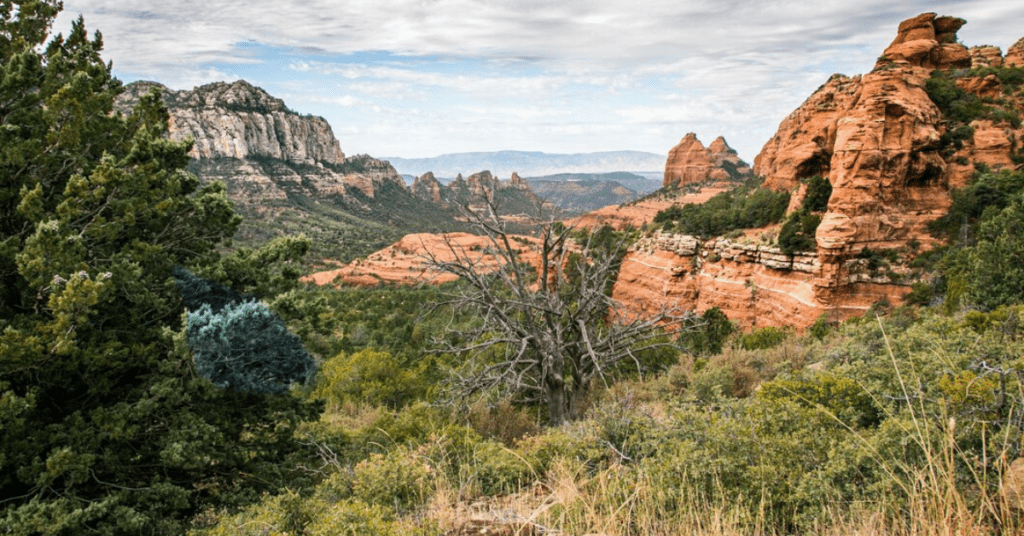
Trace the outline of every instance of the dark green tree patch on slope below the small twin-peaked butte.
{"type": "Polygon", "coordinates": [[[790,193],[762,189],[760,184],[761,180],[750,179],[706,203],[667,208],[654,216],[654,223],[662,224],[666,230],[701,238],[776,223],[785,215],[790,193]]]}

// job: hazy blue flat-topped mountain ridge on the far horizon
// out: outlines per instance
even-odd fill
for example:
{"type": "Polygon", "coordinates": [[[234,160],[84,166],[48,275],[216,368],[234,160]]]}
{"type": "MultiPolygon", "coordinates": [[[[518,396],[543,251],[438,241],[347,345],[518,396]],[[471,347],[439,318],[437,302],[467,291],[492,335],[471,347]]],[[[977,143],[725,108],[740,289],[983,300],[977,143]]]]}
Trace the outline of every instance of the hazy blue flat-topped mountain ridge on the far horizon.
{"type": "Polygon", "coordinates": [[[554,154],[537,151],[453,153],[433,158],[380,157],[398,173],[420,176],[456,176],[488,169],[497,176],[554,175],[557,173],[603,173],[610,171],[656,171],[665,168],[665,155],[642,151],[554,154]]]}

